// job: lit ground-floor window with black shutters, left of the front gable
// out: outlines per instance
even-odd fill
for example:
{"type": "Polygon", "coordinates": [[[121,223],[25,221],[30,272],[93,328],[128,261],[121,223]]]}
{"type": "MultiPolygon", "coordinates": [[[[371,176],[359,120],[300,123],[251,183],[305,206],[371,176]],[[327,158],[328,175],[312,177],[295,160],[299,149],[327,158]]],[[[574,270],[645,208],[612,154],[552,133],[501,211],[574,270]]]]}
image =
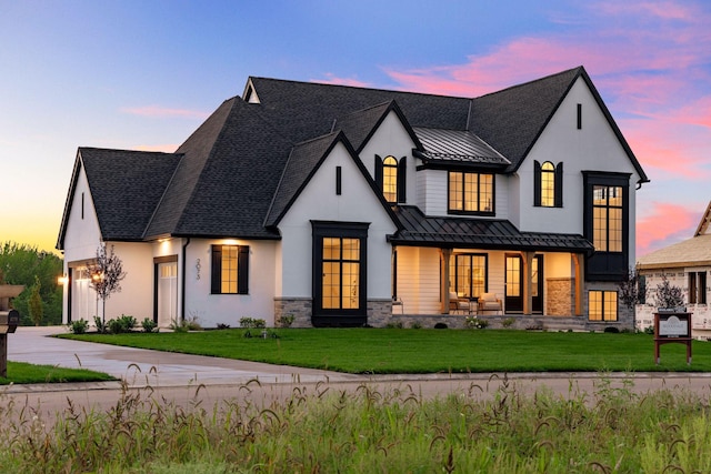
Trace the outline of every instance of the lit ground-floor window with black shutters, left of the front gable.
{"type": "Polygon", "coordinates": [[[212,245],[212,294],[249,293],[249,245],[212,245]]]}

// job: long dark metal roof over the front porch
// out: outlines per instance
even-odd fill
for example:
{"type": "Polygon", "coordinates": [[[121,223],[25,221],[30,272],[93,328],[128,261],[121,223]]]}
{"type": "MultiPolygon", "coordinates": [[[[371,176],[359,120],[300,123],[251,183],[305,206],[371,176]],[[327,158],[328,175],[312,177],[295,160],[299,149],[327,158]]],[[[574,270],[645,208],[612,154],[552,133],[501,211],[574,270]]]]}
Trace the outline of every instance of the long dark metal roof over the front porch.
{"type": "Polygon", "coordinates": [[[501,219],[427,216],[415,206],[395,208],[403,229],[388,241],[395,245],[592,253],[579,234],[520,232],[501,219]]]}

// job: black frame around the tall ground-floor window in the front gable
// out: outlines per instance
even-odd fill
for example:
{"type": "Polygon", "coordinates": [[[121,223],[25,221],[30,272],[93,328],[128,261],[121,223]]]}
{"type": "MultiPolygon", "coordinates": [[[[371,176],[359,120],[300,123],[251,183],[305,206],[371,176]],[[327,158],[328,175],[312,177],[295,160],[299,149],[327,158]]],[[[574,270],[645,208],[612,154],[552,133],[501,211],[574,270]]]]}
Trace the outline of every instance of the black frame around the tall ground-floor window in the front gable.
{"type": "Polygon", "coordinates": [[[317,327],[362,326],[368,322],[368,229],[370,223],[311,221],[312,231],[312,315],[311,323],[317,327]],[[357,309],[323,307],[323,239],[359,239],[359,293],[357,309]]]}

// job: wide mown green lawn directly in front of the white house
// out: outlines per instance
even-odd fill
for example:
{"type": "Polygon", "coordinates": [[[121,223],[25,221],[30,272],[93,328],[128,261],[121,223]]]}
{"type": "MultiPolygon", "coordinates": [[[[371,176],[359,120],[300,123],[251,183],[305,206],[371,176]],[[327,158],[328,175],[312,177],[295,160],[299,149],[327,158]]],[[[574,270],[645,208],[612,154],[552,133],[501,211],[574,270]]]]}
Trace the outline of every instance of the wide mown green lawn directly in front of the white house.
{"type": "MultiPolygon", "coordinates": [[[[253,331],[253,330],[252,330],[253,331]]],[[[711,372],[711,343],[661,347],[648,334],[511,330],[282,329],[247,339],[244,330],[191,333],[67,334],[82,341],[348,373],[711,372]]]]}

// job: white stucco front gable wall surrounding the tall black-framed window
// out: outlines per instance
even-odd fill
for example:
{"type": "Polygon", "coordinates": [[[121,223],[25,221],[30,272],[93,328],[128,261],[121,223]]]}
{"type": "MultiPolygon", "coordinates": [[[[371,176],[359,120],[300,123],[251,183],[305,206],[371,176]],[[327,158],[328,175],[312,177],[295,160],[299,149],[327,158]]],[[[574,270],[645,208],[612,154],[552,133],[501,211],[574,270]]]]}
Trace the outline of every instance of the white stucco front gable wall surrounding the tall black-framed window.
{"type": "MultiPolygon", "coordinates": [[[[395,231],[389,214],[375,198],[348,154],[337,144],[316,172],[284,219],[279,223],[282,234],[281,264],[276,274],[281,280],[282,297],[311,297],[312,234],[311,220],[367,222],[368,229],[368,297],[389,299],[391,246],[385,235],[395,231]],[[342,193],[336,194],[336,167],[342,170],[342,193]]],[[[277,262],[279,263],[279,262],[277,262]]]]}

